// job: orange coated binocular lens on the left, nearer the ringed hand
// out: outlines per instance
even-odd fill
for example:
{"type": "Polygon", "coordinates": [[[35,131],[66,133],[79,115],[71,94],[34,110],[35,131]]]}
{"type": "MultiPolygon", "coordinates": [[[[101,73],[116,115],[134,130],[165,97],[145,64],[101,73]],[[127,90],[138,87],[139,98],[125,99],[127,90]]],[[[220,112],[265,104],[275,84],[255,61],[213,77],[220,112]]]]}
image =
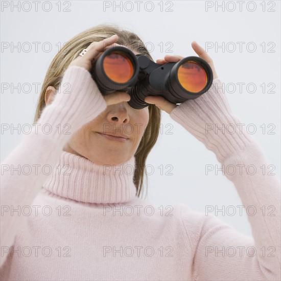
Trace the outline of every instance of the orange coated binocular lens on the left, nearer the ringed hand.
{"type": "Polygon", "coordinates": [[[120,53],[111,53],[103,60],[105,74],[116,83],[126,83],[133,76],[133,64],[120,53]]]}

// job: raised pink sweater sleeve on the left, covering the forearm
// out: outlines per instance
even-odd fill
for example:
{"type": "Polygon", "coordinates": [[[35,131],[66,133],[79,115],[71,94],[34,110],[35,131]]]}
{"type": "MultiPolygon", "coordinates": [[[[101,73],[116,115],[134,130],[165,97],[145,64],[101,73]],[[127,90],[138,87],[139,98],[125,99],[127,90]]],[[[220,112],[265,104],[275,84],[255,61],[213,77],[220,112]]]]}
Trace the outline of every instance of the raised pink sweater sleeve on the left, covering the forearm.
{"type": "MultiPolygon", "coordinates": [[[[73,133],[106,109],[106,102],[83,67],[66,69],[53,102],[30,134],[1,163],[1,249],[13,245],[24,226],[23,206],[30,206],[73,133]]],[[[1,250],[2,252],[2,250],[1,250]]],[[[3,251],[1,265],[7,254],[3,251]]]]}

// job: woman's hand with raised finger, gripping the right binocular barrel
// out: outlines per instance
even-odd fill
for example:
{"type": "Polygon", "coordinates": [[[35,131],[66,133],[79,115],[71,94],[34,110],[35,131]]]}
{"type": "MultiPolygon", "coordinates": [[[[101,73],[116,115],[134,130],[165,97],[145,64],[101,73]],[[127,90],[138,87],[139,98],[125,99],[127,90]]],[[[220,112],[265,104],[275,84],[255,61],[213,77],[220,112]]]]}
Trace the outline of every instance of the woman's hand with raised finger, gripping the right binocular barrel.
{"type": "MultiPolygon", "coordinates": [[[[202,58],[203,60],[205,60],[212,68],[213,80],[218,78],[212,58],[210,58],[210,56],[205,52],[205,50],[196,41],[193,41],[191,43],[191,46],[192,46],[193,50],[196,52],[196,54],[199,56],[199,58],[202,58]]],[[[184,57],[178,56],[178,55],[166,55],[163,59],[157,59],[156,63],[165,64],[167,62],[178,62],[183,58],[184,57]]],[[[145,98],[145,102],[149,103],[149,104],[154,104],[159,109],[164,110],[169,114],[174,108],[177,107],[176,104],[171,103],[171,102],[167,101],[165,98],[160,97],[160,96],[147,96],[145,98]]]]}

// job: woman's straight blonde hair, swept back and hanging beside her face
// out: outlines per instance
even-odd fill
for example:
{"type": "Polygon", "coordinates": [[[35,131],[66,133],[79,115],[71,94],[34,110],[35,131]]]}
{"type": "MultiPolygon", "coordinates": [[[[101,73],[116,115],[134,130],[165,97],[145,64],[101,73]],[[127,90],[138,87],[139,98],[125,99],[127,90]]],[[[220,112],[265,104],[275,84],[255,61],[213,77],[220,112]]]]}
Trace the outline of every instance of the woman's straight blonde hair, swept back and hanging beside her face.
{"type": "MultiPolygon", "coordinates": [[[[49,69],[45,75],[43,86],[37,102],[37,108],[34,116],[34,123],[40,118],[41,112],[45,107],[45,91],[48,86],[59,88],[60,82],[68,65],[79,55],[81,50],[86,49],[91,42],[98,42],[117,34],[119,39],[116,43],[125,45],[129,49],[134,50],[142,55],[150,56],[146,46],[142,40],[133,32],[124,30],[118,25],[102,24],[89,28],[72,39],[57,53],[52,60],[49,69]]],[[[161,112],[155,105],[149,105],[149,122],[144,132],[142,140],[135,153],[135,165],[133,181],[136,186],[136,195],[143,197],[144,194],[144,175],[145,163],[147,156],[156,143],[159,134],[161,112]]],[[[146,175],[147,177],[147,175],[146,175]]],[[[147,196],[147,186],[146,186],[147,196]]]]}

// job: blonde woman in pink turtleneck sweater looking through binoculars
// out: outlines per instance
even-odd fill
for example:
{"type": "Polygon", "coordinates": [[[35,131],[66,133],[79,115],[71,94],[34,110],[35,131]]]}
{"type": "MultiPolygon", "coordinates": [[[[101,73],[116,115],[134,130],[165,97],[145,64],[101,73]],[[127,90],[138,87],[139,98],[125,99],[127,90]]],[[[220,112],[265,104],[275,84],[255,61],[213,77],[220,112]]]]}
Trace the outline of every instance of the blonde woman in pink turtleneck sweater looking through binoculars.
{"type": "Polygon", "coordinates": [[[128,105],[126,92],[102,96],[89,73],[115,44],[152,59],[134,33],[115,26],[100,25],[72,38],[44,80],[35,116],[44,130],[34,127],[2,163],[1,279],[280,280],[278,180],[261,169],[247,173],[248,165],[267,162],[246,132],[205,132],[206,124],[241,123],[220,89],[212,59],[192,43],[214,73],[204,95],[180,105],[150,96],[145,101],[151,105],[139,110],[128,105]],[[160,212],[139,198],[160,110],[222,165],[241,168],[226,176],[243,205],[258,210],[248,216],[253,239],[184,204],[160,212]],[[131,134],[122,130],[126,126],[134,128],[131,134]],[[11,173],[15,167],[19,172],[11,173]],[[137,168],[128,172],[132,167],[137,168]],[[259,212],[271,205],[274,216],[259,212]]]}

